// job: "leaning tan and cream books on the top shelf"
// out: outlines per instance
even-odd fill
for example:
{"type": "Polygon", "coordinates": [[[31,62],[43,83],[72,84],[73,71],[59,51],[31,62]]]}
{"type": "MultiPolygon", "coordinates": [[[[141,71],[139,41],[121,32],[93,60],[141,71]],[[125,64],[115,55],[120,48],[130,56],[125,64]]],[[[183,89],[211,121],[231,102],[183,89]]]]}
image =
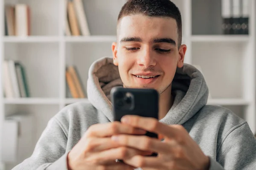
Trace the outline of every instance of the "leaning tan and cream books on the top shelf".
{"type": "Polygon", "coordinates": [[[82,0],[67,0],[65,34],[67,36],[90,35],[82,0]]]}

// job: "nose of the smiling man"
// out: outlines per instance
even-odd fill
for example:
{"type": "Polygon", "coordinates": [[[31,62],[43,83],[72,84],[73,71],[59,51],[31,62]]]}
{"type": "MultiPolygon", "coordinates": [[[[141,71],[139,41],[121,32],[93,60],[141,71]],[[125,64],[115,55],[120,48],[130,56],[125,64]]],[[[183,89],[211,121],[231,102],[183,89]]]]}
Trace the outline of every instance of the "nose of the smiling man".
{"type": "Polygon", "coordinates": [[[141,54],[138,55],[137,64],[145,68],[153,67],[156,65],[156,61],[153,56],[153,51],[149,48],[145,48],[141,51],[141,54]]]}

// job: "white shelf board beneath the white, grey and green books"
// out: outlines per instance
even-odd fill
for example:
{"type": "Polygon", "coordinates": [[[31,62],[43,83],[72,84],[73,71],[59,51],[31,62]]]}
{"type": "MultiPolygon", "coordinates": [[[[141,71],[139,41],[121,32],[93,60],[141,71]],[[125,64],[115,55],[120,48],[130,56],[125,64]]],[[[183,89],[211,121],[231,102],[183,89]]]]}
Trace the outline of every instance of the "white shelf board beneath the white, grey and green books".
{"type": "Polygon", "coordinates": [[[4,99],[5,104],[24,104],[24,105],[58,105],[60,100],[58,98],[16,98],[4,99]]]}

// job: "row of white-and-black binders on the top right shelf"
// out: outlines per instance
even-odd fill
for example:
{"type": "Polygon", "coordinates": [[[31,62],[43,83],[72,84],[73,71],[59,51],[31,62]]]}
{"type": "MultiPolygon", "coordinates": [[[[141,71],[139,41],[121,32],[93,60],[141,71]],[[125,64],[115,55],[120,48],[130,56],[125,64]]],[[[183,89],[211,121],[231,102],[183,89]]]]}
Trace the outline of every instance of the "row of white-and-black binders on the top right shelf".
{"type": "Polygon", "coordinates": [[[249,1],[221,0],[223,34],[249,34],[249,1]]]}

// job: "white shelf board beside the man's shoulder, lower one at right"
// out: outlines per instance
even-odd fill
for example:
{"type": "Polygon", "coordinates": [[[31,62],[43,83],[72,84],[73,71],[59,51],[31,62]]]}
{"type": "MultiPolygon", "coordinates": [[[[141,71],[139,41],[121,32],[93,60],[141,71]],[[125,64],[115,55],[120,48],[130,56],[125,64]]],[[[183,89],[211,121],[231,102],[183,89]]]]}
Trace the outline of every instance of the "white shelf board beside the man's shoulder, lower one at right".
{"type": "Polygon", "coordinates": [[[207,105],[249,105],[245,99],[208,99],[207,105]]]}

